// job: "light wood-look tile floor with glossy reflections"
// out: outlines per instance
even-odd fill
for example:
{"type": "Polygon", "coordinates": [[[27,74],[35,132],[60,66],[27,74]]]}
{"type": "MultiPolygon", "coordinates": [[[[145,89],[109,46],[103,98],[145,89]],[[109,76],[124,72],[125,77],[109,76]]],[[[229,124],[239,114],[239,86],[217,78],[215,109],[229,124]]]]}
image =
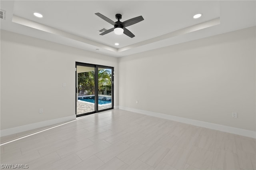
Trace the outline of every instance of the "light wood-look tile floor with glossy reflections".
{"type": "Polygon", "coordinates": [[[253,138],[110,110],[2,145],[0,159],[29,170],[255,170],[255,155],[253,138]]]}

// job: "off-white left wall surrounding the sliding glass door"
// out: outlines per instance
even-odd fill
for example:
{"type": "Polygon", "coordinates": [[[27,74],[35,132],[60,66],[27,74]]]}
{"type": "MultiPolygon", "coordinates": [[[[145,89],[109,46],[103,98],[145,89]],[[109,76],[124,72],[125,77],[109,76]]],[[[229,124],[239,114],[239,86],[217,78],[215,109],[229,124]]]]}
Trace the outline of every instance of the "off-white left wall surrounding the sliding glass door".
{"type": "Polygon", "coordinates": [[[1,30],[1,130],[75,115],[76,61],[118,73],[116,57],[1,30]]]}

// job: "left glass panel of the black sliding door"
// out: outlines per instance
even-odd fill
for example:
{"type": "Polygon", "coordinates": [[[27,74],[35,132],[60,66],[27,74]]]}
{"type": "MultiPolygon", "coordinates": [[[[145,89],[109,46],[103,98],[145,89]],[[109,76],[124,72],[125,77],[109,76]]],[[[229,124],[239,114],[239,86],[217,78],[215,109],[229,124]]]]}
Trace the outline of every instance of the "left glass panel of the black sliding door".
{"type": "Polygon", "coordinates": [[[95,111],[95,67],[76,66],[76,115],[95,111]]]}

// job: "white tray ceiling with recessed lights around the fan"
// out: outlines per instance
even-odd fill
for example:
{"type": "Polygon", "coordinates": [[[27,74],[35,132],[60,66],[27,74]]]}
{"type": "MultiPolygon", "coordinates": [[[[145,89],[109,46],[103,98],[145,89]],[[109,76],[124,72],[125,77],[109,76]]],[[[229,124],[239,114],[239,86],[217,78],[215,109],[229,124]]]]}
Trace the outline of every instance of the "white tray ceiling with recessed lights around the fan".
{"type": "Polygon", "coordinates": [[[67,1],[1,0],[1,29],[80,49],[121,57],[248,28],[256,24],[255,1],[67,1]],[[38,12],[43,18],[33,15],[38,12]],[[100,36],[101,28],[112,25],[95,15],[99,12],[114,22],[136,16],[144,20],[127,27],[135,37],[100,36]],[[202,13],[199,19],[193,15],[202,13]],[[116,46],[114,43],[120,45],[116,46]],[[96,49],[99,49],[96,51],[96,49]]]}

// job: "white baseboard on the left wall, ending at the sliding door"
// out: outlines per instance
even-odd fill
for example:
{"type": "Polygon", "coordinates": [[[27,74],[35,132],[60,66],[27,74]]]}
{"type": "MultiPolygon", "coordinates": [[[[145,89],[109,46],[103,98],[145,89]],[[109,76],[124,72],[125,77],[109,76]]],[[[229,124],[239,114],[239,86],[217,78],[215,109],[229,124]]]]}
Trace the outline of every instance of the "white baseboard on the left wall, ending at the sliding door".
{"type": "Polygon", "coordinates": [[[52,119],[52,120],[48,120],[48,121],[42,121],[42,122],[37,122],[37,123],[31,123],[28,125],[22,125],[19,127],[14,127],[14,128],[7,128],[7,129],[3,129],[0,130],[0,136],[7,136],[10,134],[15,134],[15,133],[20,133],[20,132],[24,132],[27,130],[32,130],[32,129],[36,129],[36,128],[40,128],[40,127],[46,127],[46,126],[50,126],[50,125],[54,125],[54,124],[58,124],[58,123],[62,123],[62,122],[66,122],[66,121],[72,121],[76,119],[76,115],[72,115],[72,116],[68,116],[68,117],[61,117],[58,119],[52,119]]]}

